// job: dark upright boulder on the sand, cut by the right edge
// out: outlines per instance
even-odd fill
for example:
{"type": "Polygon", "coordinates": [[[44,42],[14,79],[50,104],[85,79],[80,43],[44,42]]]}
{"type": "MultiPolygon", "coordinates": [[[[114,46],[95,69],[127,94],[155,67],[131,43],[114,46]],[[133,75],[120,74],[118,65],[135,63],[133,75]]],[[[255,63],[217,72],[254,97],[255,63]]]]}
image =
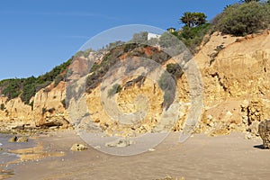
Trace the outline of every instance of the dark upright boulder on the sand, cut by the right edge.
{"type": "Polygon", "coordinates": [[[258,132],[263,139],[264,147],[270,148],[270,120],[261,121],[258,125],[258,132]]]}

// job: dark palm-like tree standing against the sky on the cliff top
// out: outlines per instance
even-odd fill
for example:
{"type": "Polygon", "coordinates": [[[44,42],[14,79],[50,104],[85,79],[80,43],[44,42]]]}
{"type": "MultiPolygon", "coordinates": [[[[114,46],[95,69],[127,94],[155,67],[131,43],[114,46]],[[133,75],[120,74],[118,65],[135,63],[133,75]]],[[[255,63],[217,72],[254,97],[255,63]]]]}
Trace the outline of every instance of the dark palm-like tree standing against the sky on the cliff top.
{"type": "Polygon", "coordinates": [[[207,16],[203,13],[185,12],[179,20],[180,23],[184,23],[187,27],[192,28],[206,23],[206,18],[207,16]]]}

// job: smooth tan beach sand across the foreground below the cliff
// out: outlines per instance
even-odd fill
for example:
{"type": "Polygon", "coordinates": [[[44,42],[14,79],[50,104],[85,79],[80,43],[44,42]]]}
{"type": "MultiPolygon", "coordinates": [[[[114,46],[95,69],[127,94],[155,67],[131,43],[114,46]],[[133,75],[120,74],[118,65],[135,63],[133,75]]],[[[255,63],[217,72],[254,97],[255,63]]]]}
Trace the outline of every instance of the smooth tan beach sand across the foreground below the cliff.
{"type": "Polygon", "coordinates": [[[154,151],[130,157],[117,157],[89,147],[71,152],[73,143],[84,143],[75,132],[56,132],[43,137],[47,153],[63,151],[64,157],[45,157],[10,165],[9,179],[159,179],[166,175],[185,179],[269,179],[270,150],[262,149],[261,139],[247,140],[244,134],[207,137],[193,135],[177,142],[171,133],[154,151]]]}

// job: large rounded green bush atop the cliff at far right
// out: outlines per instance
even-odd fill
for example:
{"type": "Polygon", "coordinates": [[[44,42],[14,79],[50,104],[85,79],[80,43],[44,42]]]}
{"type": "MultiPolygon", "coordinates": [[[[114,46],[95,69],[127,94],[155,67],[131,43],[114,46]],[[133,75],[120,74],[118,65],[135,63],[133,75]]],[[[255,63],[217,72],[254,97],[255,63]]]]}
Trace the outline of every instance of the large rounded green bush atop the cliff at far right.
{"type": "Polygon", "coordinates": [[[252,1],[232,4],[218,15],[213,24],[216,31],[235,36],[245,36],[269,28],[270,5],[252,1]]]}

